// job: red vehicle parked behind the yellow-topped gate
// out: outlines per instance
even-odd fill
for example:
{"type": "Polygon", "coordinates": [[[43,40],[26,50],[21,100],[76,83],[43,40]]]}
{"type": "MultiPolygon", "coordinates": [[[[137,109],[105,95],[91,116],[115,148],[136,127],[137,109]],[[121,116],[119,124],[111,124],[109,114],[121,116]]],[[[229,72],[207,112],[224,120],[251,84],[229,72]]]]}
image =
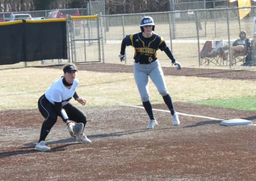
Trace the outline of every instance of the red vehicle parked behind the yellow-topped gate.
{"type": "MultiPolygon", "coordinates": [[[[66,15],[70,16],[80,16],[80,13],[77,9],[71,9],[71,10],[56,10],[52,11],[47,14],[47,17],[49,18],[66,18],[66,15]]],[[[74,21],[74,28],[75,28],[75,34],[80,35],[81,29],[82,29],[82,21],[81,20],[75,20],[74,21]]]]}

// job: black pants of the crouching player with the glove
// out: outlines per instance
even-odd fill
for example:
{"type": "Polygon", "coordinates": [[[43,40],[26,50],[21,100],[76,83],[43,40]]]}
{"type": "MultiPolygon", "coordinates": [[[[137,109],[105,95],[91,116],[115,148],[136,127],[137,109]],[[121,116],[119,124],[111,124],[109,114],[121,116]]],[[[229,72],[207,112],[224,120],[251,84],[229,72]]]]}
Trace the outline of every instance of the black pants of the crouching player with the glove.
{"type": "MultiPolygon", "coordinates": [[[[42,95],[39,98],[38,109],[42,116],[45,118],[41,128],[39,139],[40,142],[41,140],[45,140],[53,125],[56,123],[58,116],[60,115],[56,110],[55,105],[48,101],[45,95],[42,95]]],[[[86,115],[76,106],[68,103],[67,105],[63,106],[63,109],[66,111],[69,120],[74,122],[81,122],[84,124],[84,126],[86,125],[86,115]]]]}

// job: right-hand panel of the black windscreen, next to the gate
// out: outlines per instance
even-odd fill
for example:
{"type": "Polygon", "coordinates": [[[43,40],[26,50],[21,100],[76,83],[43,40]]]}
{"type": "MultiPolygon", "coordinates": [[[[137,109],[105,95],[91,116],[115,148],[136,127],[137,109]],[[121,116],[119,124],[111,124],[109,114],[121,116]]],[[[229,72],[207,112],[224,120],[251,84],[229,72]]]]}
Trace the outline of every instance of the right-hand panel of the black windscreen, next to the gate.
{"type": "Polygon", "coordinates": [[[66,22],[25,23],[26,62],[67,59],[66,22]]]}

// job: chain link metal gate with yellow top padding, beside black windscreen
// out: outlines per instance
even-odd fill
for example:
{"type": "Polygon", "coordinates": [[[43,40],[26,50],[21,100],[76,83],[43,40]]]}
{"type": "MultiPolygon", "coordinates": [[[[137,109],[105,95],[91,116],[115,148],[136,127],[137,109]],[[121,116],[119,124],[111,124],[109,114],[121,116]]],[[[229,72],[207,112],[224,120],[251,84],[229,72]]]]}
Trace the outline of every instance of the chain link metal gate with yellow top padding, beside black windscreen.
{"type": "Polygon", "coordinates": [[[68,17],[67,31],[69,62],[101,62],[98,15],[68,17]]]}

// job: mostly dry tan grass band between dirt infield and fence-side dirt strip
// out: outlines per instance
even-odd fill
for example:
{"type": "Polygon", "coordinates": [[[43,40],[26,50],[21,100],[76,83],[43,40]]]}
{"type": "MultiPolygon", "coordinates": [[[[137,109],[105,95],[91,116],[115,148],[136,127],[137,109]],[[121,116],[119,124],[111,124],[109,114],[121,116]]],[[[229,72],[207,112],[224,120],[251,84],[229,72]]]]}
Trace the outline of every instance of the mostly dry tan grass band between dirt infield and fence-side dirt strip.
{"type": "MultiPolygon", "coordinates": [[[[0,110],[37,109],[39,97],[63,75],[63,71],[52,68],[5,69],[1,72],[8,76],[4,76],[0,86],[0,110]]],[[[86,107],[142,104],[133,73],[79,70],[77,78],[79,79],[77,93],[87,100],[86,107]]],[[[251,110],[254,107],[242,106],[236,101],[240,99],[243,101],[243,97],[256,97],[256,84],[251,80],[165,76],[165,81],[174,102],[193,101],[197,104],[202,102],[210,104],[204,100],[234,100],[225,105],[215,101],[213,105],[242,110],[251,110]],[[236,107],[237,105],[241,106],[236,107]]],[[[152,104],[164,104],[162,96],[151,80],[149,80],[149,93],[152,104]]],[[[71,103],[82,107],[74,99],[71,103]]]]}

